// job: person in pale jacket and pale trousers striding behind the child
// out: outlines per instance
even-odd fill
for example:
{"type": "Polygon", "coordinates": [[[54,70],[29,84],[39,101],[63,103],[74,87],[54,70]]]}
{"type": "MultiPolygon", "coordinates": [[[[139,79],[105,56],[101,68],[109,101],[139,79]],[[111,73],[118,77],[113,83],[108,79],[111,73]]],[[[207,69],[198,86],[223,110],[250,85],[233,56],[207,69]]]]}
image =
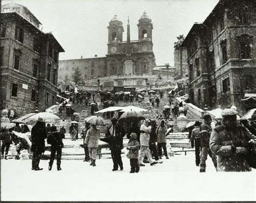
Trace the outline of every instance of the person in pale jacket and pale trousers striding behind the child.
{"type": "Polygon", "coordinates": [[[150,132],[152,128],[151,125],[149,125],[149,123],[150,123],[150,120],[146,118],[146,120],[144,120],[143,124],[140,126],[140,150],[139,150],[140,166],[145,166],[142,163],[142,160],[145,155],[149,160],[151,166],[154,164],[157,164],[157,162],[154,162],[149,149],[150,132]]]}

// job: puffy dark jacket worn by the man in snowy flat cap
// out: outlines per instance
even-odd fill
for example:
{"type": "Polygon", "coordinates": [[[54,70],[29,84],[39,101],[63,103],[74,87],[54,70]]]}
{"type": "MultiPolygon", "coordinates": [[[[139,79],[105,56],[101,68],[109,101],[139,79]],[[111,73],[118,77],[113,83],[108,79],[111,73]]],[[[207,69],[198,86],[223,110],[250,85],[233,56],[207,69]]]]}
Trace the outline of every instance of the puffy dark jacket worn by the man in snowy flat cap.
{"type": "Polygon", "coordinates": [[[251,171],[246,155],[237,155],[232,150],[232,145],[246,147],[248,141],[253,138],[256,137],[241,125],[235,131],[228,130],[223,124],[214,128],[210,149],[218,156],[218,171],[251,171]]]}

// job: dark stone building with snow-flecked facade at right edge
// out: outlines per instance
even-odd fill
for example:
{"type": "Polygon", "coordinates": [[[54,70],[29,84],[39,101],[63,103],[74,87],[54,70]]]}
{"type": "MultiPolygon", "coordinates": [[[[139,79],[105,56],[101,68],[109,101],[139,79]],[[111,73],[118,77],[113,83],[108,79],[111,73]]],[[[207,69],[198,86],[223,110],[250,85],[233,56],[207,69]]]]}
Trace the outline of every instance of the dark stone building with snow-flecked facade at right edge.
{"type": "Polygon", "coordinates": [[[255,108],[256,1],[220,0],[188,32],[190,100],[198,107],[255,108]],[[254,102],[250,102],[254,101],[254,102]]]}

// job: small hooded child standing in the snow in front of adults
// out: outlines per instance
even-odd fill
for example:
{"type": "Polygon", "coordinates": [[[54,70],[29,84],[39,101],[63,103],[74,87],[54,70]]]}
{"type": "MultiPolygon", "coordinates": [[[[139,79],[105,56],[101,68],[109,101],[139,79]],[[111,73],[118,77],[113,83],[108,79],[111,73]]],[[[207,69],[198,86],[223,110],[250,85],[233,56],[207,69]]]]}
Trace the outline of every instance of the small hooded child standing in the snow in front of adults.
{"type": "Polygon", "coordinates": [[[136,133],[132,132],[130,135],[130,141],[127,145],[127,150],[129,150],[129,158],[131,164],[131,171],[130,173],[138,173],[139,172],[139,142],[137,141],[136,133]]]}

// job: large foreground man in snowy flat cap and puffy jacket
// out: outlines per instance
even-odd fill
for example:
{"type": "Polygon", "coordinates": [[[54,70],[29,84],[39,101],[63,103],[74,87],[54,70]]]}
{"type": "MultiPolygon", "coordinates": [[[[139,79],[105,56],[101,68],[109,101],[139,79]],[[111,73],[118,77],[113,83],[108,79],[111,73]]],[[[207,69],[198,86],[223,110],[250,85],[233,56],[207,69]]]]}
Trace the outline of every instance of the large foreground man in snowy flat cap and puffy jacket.
{"type": "Polygon", "coordinates": [[[210,149],[218,156],[217,170],[226,172],[251,171],[246,154],[248,146],[255,147],[256,137],[237,122],[237,111],[224,109],[221,125],[213,129],[210,149]]]}

